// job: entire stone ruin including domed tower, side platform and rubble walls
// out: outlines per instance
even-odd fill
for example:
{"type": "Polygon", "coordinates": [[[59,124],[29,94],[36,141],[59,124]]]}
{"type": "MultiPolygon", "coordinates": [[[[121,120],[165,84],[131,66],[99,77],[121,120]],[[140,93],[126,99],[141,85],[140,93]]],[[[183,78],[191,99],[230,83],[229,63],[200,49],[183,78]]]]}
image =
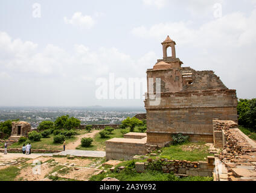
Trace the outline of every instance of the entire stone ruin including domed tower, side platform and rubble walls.
{"type": "Polygon", "coordinates": [[[175,45],[167,36],[162,42],[163,59],[147,69],[147,133],[127,133],[106,141],[106,159],[140,159],[137,155],[164,147],[172,134],[182,133],[192,142],[213,143],[220,153],[208,156],[207,162],[149,158],[137,162],[136,170],[143,172],[150,162],[161,162],[163,172],[177,175],[256,181],[256,143],[238,129],[235,90],[228,89],[213,71],[182,67],[175,45]]]}

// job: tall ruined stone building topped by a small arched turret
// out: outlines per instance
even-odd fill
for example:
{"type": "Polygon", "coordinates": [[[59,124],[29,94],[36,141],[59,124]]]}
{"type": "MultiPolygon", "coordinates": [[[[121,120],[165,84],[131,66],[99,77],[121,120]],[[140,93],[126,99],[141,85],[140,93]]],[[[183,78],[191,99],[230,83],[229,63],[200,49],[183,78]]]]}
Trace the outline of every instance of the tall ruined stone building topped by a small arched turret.
{"type": "Polygon", "coordinates": [[[191,141],[213,142],[213,118],[237,122],[236,92],[213,71],[182,67],[175,45],[167,36],[163,59],[147,69],[147,144],[162,147],[174,133],[187,134],[191,141]]]}

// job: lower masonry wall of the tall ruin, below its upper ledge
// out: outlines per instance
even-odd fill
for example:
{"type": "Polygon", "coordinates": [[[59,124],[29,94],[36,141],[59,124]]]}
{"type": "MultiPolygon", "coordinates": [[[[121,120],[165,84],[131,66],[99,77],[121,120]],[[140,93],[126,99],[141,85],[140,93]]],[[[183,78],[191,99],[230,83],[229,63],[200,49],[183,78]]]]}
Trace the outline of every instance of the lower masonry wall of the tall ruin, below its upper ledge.
{"type": "Polygon", "coordinates": [[[191,141],[213,142],[213,118],[237,121],[235,90],[197,90],[161,93],[154,107],[145,101],[148,143],[159,145],[170,134],[189,134],[191,141]]]}

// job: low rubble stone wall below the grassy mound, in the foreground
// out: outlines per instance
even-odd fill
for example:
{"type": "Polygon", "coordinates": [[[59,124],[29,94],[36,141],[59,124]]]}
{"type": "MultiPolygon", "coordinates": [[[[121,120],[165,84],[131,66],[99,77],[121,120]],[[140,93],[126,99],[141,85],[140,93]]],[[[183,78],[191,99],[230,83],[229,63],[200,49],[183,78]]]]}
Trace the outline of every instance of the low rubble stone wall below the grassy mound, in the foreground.
{"type": "Polygon", "coordinates": [[[168,159],[147,159],[147,162],[136,162],[137,172],[144,169],[161,169],[164,173],[173,172],[174,174],[187,176],[213,176],[214,157],[208,156],[207,162],[190,162],[187,160],[168,160],[168,159]],[[159,168],[160,167],[160,168],[159,168]]]}

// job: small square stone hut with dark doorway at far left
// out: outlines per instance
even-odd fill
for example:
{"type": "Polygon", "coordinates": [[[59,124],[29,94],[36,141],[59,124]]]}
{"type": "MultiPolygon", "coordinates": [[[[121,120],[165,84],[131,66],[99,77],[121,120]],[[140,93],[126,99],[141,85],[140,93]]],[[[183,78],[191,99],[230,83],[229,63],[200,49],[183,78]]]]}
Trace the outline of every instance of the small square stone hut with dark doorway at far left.
{"type": "Polygon", "coordinates": [[[28,132],[31,131],[31,125],[25,121],[11,122],[11,136],[28,136],[28,132]]]}

